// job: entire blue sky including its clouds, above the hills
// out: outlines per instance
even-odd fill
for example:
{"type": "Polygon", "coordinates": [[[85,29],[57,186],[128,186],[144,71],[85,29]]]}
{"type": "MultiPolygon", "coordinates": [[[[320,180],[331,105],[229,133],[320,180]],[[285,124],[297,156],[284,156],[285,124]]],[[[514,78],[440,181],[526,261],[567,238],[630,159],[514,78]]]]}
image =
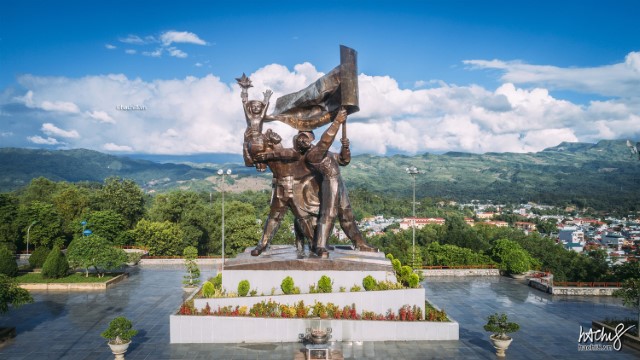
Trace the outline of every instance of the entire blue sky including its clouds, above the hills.
{"type": "Polygon", "coordinates": [[[338,65],[340,44],[358,51],[355,153],[638,140],[639,10],[631,0],[5,1],[0,146],[240,153],[234,79],[245,72],[252,98],[270,88],[275,99],[338,65]]]}

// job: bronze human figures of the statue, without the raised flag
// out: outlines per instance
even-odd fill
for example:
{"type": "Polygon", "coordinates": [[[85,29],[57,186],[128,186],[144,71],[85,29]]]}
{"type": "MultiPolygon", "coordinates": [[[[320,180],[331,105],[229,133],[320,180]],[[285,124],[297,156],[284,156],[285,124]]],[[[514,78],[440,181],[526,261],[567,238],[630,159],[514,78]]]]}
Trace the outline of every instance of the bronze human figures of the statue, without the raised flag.
{"type": "Polygon", "coordinates": [[[346,137],[347,111],[316,111],[310,115],[289,113],[267,115],[272,92],[264,92],[264,100],[249,100],[247,89],[251,81],[244,74],[237,79],[242,88],[241,98],[247,121],[244,133],[243,158],[246,166],[258,171],[268,167],[273,173],[271,209],[262,238],[251,251],[260,255],[269,246],[278,227],[291,209],[295,217],[295,245],[299,257],[304,257],[305,239],[309,241],[310,255],[328,257],[328,240],[336,218],[351,240],[355,250],[378,251],[365,241],[355,222],[349,195],[340,175],[340,166],[351,161],[349,139],[346,137]],[[293,148],[284,148],[281,137],[271,129],[262,132],[264,122],[281,121],[297,130],[293,148]],[[312,129],[331,123],[314,144],[312,129]],[[340,153],[329,151],[342,126],[340,153]]]}

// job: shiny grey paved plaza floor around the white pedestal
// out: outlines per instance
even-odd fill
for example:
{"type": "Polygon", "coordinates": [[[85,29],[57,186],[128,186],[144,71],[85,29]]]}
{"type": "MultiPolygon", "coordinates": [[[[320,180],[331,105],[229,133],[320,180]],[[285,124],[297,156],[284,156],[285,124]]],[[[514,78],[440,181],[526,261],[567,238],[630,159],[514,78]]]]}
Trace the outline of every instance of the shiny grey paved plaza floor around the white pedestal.
{"type": "MultiPolygon", "coordinates": [[[[181,267],[143,267],[106,291],[33,291],[35,303],[12,309],[0,326],[17,337],[0,348],[0,359],[113,359],[100,333],[119,315],[140,332],[126,359],[302,359],[301,343],[169,344],[169,315],[185,293],[181,267]]],[[[213,276],[203,269],[203,278],[213,276]]],[[[630,317],[618,299],[558,297],[505,277],[439,277],[425,283],[428,299],[460,323],[459,341],[333,343],[345,359],[496,359],[482,328],[486,317],[506,312],[521,330],[507,359],[640,359],[640,352],[578,351],[580,326],[591,319],[630,317]]]]}

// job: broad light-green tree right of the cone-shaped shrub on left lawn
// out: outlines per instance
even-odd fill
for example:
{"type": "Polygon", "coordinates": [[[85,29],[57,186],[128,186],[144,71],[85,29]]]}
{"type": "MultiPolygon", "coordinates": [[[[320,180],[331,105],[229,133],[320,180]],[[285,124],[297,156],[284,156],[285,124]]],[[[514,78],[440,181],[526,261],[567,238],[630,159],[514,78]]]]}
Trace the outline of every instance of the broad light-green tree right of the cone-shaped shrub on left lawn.
{"type": "Polygon", "coordinates": [[[85,269],[85,276],[89,276],[89,269],[94,268],[98,276],[102,277],[106,270],[115,269],[127,262],[127,253],[117,249],[113,243],[103,237],[90,235],[77,237],[67,249],[67,259],[72,267],[85,269]]]}

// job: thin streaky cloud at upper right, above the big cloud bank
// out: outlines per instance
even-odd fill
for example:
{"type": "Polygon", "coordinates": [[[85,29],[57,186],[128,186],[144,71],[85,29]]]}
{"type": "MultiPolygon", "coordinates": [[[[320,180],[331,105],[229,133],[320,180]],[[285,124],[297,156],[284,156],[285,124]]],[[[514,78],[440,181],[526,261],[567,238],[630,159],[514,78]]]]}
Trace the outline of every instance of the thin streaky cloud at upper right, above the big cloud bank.
{"type": "Polygon", "coordinates": [[[638,97],[640,94],[640,52],[630,52],[621,63],[583,68],[501,60],[466,60],[464,63],[472,69],[501,70],[504,72],[501,80],[513,84],[613,97],[638,97]]]}

